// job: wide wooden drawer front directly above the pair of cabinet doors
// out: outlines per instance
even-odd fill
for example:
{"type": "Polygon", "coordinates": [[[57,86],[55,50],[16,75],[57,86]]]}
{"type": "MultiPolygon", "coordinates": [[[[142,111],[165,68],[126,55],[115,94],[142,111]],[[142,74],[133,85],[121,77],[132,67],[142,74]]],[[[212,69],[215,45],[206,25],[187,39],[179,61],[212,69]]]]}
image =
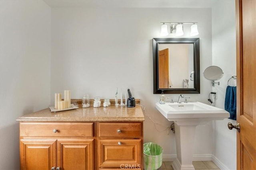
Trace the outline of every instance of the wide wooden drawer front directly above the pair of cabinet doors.
{"type": "Polygon", "coordinates": [[[22,137],[93,137],[93,123],[20,123],[22,137]]]}

